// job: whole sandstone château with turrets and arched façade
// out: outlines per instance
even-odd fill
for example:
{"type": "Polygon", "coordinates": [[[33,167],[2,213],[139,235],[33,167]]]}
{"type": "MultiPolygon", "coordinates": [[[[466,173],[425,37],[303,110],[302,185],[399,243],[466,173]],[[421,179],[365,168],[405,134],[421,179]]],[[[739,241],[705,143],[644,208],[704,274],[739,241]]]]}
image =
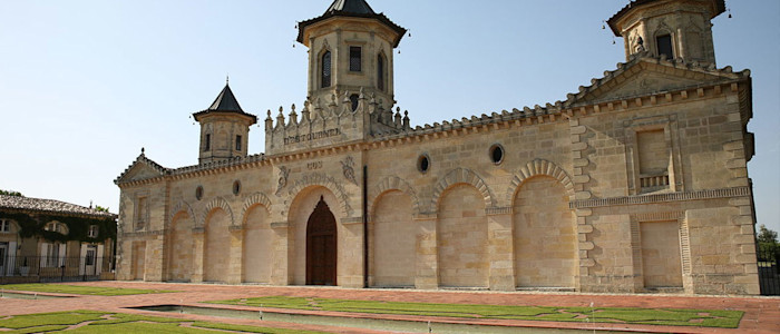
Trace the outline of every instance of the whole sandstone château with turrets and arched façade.
{"type": "Polygon", "coordinates": [[[364,0],[299,24],[309,96],[247,154],[228,86],[199,163],[116,184],[119,279],[758,294],[751,78],[715,67],[723,0],[636,0],[626,62],[565,100],[412,127],[406,30],[364,0]]]}

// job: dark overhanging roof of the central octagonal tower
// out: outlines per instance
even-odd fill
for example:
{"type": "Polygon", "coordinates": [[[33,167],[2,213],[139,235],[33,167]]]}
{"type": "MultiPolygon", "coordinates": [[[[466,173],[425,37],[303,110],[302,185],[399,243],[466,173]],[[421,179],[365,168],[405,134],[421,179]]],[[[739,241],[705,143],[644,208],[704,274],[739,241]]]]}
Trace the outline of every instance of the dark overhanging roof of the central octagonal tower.
{"type": "Polygon", "coordinates": [[[335,0],[322,16],[298,23],[298,42],[305,45],[303,41],[303,32],[305,31],[306,27],[334,17],[367,18],[382,22],[384,26],[398,33],[398,38],[393,41],[393,48],[398,47],[403,38],[403,35],[407,33],[407,29],[396,24],[393,21],[388,19],[384,13],[374,12],[365,0],[335,0]]]}

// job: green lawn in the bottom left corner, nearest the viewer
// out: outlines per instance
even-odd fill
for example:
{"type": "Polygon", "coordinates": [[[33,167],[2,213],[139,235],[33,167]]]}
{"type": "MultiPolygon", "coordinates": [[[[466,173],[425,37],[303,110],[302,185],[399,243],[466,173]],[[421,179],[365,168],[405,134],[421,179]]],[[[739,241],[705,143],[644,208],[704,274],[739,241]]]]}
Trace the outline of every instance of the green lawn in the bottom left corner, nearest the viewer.
{"type": "Polygon", "coordinates": [[[209,330],[237,333],[267,334],[321,334],[325,332],[292,331],[245,325],[231,325],[209,322],[195,322],[179,318],[106,313],[96,311],[72,311],[42,314],[14,315],[0,320],[1,333],[214,333],[209,330]],[[82,325],[68,330],[74,325],[82,325]]]}

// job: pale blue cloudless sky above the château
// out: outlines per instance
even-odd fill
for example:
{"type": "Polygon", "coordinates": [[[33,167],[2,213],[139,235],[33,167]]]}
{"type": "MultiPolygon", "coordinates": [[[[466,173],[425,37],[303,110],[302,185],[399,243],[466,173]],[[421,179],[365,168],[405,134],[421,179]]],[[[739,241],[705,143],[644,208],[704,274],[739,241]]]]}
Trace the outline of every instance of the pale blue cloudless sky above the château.
{"type": "MultiPolygon", "coordinates": [[[[628,0],[369,0],[410,30],[396,98],[412,125],[555,102],[625,61],[602,20],[628,0]]],[[[295,22],[330,0],[0,1],[0,188],[117,212],[113,180],[140,147],[166,167],[197,163],[188,118],[230,73],[244,110],[302,105],[295,22]]],[[[718,66],[753,77],[759,224],[780,230],[780,1],[727,0],[718,66]]],[[[250,153],[262,153],[253,127],[250,153]]]]}

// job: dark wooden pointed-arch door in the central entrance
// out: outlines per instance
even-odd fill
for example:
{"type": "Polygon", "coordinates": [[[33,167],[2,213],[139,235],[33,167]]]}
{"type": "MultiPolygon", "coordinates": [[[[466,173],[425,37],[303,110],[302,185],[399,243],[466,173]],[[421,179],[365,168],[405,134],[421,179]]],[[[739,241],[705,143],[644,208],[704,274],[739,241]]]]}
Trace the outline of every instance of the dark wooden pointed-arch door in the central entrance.
{"type": "Polygon", "coordinates": [[[335,217],[321,196],[306,222],[306,285],[335,285],[335,217]]]}

